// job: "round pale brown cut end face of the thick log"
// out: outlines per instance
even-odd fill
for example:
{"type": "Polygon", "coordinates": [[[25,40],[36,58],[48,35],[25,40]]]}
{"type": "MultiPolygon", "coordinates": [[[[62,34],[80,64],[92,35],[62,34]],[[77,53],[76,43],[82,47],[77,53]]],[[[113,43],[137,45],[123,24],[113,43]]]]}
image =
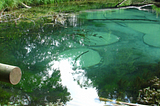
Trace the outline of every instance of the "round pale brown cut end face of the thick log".
{"type": "Polygon", "coordinates": [[[10,83],[13,85],[18,84],[19,81],[21,80],[21,76],[22,76],[21,69],[18,67],[15,67],[14,69],[12,69],[9,75],[10,83]]]}

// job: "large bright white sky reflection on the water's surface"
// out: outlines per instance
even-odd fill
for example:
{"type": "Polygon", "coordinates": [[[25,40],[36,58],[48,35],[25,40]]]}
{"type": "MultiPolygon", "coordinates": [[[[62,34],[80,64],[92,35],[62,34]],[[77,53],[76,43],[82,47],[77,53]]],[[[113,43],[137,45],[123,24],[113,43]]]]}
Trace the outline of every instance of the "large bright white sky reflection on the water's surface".
{"type": "Polygon", "coordinates": [[[85,70],[73,70],[73,62],[72,58],[63,58],[59,61],[54,60],[49,63],[51,70],[48,70],[50,77],[54,70],[60,70],[62,84],[68,88],[68,91],[71,93],[71,97],[73,98],[73,100],[67,103],[67,106],[103,106],[104,103],[97,100],[98,95],[95,88],[81,88],[80,85],[73,80],[80,76],[81,79],[87,79],[84,78],[85,76],[81,75],[85,70]],[[72,74],[75,73],[75,71],[78,71],[81,74],[72,74]]]}

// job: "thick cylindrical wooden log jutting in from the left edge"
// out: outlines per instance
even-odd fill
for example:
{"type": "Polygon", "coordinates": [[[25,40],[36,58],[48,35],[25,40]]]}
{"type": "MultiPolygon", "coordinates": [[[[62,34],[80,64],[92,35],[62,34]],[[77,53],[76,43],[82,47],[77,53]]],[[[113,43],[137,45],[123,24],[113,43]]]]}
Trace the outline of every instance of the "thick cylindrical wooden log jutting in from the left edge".
{"type": "Polygon", "coordinates": [[[0,63],[0,81],[16,85],[19,83],[21,76],[19,67],[0,63]]]}

